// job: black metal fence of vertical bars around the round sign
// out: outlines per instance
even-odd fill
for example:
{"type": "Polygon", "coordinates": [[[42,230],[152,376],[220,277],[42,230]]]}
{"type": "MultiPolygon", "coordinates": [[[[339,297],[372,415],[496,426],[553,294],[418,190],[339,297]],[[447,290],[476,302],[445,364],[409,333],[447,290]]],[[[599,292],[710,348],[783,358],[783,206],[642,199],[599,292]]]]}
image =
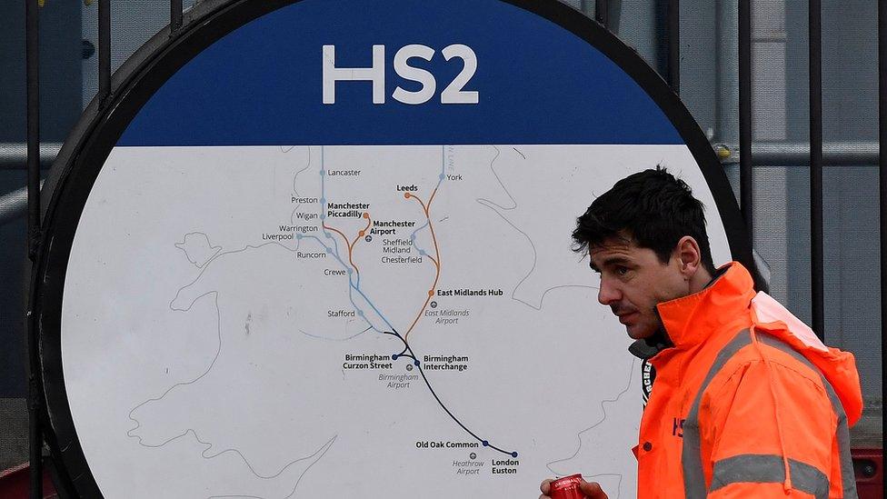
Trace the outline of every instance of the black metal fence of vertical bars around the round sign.
{"type": "MultiPolygon", "coordinates": [[[[40,166],[41,151],[46,149],[40,141],[40,94],[39,94],[39,54],[38,54],[38,8],[39,0],[25,1],[26,19],[26,88],[27,88],[27,253],[34,262],[37,245],[41,237],[40,206],[40,166]]],[[[583,2],[584,5],[584,2],[583,2]]],[[[610,23],[611,2],[595,0],[595,19],[604,26],[610,23]]],[[[663,77],[675,93],[680,90],[680,3],[679,0],[665,2],[667,12],[667,64],[663,77]]],[[[170,27],[175,31],[183,25],[182,0],[170,1],[170,27]]],[[[824,292],[823,292],[823,215],[822,215],[822,5],[821,0],[809,0],[809,93],[810,93],[810,224],[811,224],[811,298],[812,328],[821,338],[824,332],[824,292]]],[[[739,157],[740,157],[740,205],[742,215],[752,237],[752,3],[738,2],[738,47],[739,47],[739,157]]],[[[878,2],[878,54],[879,54],[879,138],[880,144],[887,141],[887,0],[878,2]]],[[[111,2],[98,2],[98,99],[111,94],[111,2]]],[[[52,147],[52,146],[50,146],[52,147]]],[[[55,145],[57,147],[57,145],[55,145]]],[[[44,151],[45,153],[45,151],[44,151]]],[[[50,152],[52,154],[52,152],[50,152]]],[[[795,154],[796,156],[800,154],[795,154]]],[[[46,154],[43,155],[44,157],[46,154]]],[[[879,148],[880,165],[880,237],[881,269],[887,268],[887,151],[879,148]]],[[[45,159],[43,161],[45,163],[45,159]]],[[[887,272],[881,273],[882,311],[882,353],[887,344],[887,272]]],[[[41,394],[37,383],[35,366],[39,365],[35,324],[33,316],[27,313],[28,352],[30,359],[29,377],[29,441],[31,466],[31,496],[42,497],[41,452],[42,434],[40,428],[41,394]]],[[[882,355],[882,372],[883,372],[882,355]]]]}

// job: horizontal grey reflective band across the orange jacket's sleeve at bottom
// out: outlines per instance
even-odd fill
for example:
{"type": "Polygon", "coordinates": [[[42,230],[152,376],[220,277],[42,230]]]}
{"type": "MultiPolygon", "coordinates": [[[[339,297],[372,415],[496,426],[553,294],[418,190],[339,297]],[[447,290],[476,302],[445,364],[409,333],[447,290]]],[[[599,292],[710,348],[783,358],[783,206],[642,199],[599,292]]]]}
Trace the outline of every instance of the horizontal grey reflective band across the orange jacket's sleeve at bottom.
{"type": "MultiPolygon", "coordinates": [[[[829,478],[811,464],[789,459],[792,488],[811,494],[816,499],[828,499],[829,478]]],[[[714,492],[729,484],[782,484],[785,467],[782,456],[776,454],[741,454],[714,464],[712,486],[714,492]]]]}

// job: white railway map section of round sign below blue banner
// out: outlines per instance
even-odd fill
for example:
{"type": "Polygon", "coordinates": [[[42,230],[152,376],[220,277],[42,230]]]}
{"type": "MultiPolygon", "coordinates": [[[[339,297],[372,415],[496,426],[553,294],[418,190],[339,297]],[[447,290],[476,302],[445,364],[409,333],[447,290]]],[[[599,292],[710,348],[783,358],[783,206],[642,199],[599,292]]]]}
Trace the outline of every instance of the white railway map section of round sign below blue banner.
{"type": "Polygon", "coordinates": [[[685,146],[623,147],[116,147],[63,310],[65,359],[105,359],[65,380],[96,482],[523,497],[583,473],[633,497],[640,361],[570,233],[653,165],[713,199],[685,146]]]}

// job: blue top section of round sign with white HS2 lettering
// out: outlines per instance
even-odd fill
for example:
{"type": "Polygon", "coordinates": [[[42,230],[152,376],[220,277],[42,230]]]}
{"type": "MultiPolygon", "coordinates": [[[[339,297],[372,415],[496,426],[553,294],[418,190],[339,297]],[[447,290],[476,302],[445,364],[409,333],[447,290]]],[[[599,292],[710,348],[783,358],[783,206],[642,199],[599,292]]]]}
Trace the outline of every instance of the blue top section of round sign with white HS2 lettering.
{"type": "Polygon", "coordinates": [[[683,139],[613,61],[514,5],[304,0],[196,55],[117,143],[321,144],[683,139]]]}

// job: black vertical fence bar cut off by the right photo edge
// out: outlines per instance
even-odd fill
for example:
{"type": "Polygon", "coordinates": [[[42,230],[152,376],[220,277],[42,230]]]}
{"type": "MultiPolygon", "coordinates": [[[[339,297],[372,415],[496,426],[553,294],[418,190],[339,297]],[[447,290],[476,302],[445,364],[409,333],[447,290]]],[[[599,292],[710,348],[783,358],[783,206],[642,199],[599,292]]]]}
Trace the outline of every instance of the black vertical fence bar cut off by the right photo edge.
{"type": "MultiPolygon", "coordinates": [[[[881,372],[887,373],[887,0],[878,0],[878,116],[881,175],[881,372]]],[[[883,436],[882,436],[883,438],[883,436]]]]}

